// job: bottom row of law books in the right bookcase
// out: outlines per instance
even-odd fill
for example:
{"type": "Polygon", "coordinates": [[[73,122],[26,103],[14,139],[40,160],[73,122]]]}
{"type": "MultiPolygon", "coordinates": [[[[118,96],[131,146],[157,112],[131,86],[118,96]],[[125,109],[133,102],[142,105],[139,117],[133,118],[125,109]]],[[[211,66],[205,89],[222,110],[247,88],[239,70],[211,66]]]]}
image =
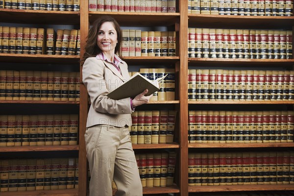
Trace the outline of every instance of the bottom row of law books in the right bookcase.
{"type": "Polygon", "coordinates": [[[189,153],[189,186],[294,184],[294,151],[189,153]]]}

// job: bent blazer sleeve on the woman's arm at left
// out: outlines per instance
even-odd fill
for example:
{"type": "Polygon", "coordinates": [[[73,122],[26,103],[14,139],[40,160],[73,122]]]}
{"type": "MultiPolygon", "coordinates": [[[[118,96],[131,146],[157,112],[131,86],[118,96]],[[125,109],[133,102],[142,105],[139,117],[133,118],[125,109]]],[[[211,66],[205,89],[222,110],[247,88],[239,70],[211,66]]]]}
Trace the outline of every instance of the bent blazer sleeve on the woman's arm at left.
{"type": "Polygon", "coordinates": [[[105,78],[105,65],[103,61],[87,58],[82,69],[82,81],[85,84],[91,98],[91,106],[95,111],[108,114],[131,114],[130,98],[114,100],[108,98],[109,93],[105,78]]]}

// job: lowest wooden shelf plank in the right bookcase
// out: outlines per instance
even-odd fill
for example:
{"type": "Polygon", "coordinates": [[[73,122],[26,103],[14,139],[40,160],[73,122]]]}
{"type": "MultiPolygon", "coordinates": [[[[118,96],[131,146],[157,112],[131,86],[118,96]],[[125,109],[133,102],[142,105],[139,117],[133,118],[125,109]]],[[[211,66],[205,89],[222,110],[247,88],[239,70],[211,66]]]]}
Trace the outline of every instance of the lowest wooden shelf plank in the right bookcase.
{"type": "Polygon", "coordinates": [[[228,192],[228,191],[293,191],[289,185],[225,185],[225,186],[189,186],[190,193],[196,192],[228,192]]]}

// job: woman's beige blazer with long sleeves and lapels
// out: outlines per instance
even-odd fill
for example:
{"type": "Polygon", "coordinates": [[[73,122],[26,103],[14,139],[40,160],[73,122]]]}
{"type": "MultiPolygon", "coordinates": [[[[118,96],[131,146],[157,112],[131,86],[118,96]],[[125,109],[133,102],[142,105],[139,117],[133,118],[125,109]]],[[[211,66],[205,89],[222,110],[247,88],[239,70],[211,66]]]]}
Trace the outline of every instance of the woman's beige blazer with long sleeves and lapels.
{"type": "Polygon", "coordinates": [[[111,63],[96,57],[86,59],[82,81],[91,98],[87,127],[96,124],[132,125],[130,98],[114,100],[106,96],[129,79],[127,64],[123,61],[119,67],[121,73],[111,63]]]}

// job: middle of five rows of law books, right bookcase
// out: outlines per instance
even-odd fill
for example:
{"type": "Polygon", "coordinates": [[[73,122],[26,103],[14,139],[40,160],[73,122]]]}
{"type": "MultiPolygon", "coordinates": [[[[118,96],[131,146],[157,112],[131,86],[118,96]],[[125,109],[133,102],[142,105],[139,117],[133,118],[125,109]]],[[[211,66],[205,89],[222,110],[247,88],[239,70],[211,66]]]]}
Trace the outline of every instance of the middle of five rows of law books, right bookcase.
{"type": "Polygon", "coordinates": [[[294,101],[294,71],[190,69],[188,100],[294,101]]]}

